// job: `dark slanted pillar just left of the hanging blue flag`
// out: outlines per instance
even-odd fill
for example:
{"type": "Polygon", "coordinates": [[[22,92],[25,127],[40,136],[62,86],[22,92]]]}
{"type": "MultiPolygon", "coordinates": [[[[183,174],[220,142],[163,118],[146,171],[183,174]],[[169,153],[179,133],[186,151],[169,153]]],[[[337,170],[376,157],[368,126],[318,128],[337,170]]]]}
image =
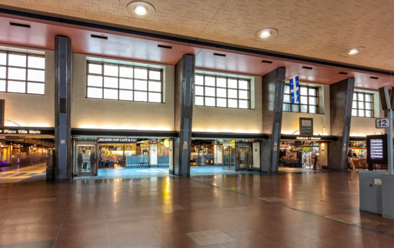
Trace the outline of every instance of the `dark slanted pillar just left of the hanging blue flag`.
{"type": "Polygon", "coordinates": [[[261,171],[278,172],[281,141],[285,68],[277,68],[263,76],[263,133],[261,142],[261,171]]]}

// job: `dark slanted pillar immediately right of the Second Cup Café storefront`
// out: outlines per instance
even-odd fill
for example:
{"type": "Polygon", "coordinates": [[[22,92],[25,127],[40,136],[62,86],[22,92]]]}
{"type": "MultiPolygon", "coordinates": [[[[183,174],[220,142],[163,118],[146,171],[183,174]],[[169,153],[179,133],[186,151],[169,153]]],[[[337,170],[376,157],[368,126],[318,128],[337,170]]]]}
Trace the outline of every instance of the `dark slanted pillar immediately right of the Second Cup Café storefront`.
{"type": "Polygon", "coordinates": [[[185,54],[175,65],[174,170],[176,176],[190,176],[191,123],[194,94],[194,55],[185,54]]]}

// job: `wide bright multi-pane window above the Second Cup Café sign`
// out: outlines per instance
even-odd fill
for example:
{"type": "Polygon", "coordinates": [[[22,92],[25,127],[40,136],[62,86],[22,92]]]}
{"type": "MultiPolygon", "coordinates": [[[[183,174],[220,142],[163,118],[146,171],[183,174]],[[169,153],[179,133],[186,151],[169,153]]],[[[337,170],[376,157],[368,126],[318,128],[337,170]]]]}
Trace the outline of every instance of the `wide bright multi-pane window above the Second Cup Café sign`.
{"type": "Polygon", "coordinates": [[[88,61],[86,97],[163,102],[162,70],[88,61]]]}

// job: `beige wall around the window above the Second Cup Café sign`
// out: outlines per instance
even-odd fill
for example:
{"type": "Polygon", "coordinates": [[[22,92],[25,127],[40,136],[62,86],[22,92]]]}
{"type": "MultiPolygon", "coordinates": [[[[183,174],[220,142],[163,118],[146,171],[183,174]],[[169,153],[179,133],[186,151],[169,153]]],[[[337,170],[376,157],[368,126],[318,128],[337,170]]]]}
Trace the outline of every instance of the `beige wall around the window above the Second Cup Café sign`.
{"type": "MultiPolygon", "coordinates": [[[[87,55],[76,53],[74,53],[73,57],[72,128],[161,131],[174,130],[173,66],[162,65],[165,67],[165,103],[163,104],[153,102],[93,99],[85,97],[86,57],[87,55]]],[[[113,60],[122,61],[122,59],[113,60]]]]}

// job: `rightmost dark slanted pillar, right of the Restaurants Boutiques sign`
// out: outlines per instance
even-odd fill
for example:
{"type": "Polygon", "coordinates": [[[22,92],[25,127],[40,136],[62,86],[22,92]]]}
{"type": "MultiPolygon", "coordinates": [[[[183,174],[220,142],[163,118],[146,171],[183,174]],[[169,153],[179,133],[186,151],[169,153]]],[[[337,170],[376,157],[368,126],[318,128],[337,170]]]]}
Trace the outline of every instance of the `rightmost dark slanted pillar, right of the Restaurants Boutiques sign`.
{"type": "Polygon", "coordinates": [[[338,140],[328,143],[329,169],[346,170],[353,92],[354,78],[330,85],[330,134],[338,140]]]}

